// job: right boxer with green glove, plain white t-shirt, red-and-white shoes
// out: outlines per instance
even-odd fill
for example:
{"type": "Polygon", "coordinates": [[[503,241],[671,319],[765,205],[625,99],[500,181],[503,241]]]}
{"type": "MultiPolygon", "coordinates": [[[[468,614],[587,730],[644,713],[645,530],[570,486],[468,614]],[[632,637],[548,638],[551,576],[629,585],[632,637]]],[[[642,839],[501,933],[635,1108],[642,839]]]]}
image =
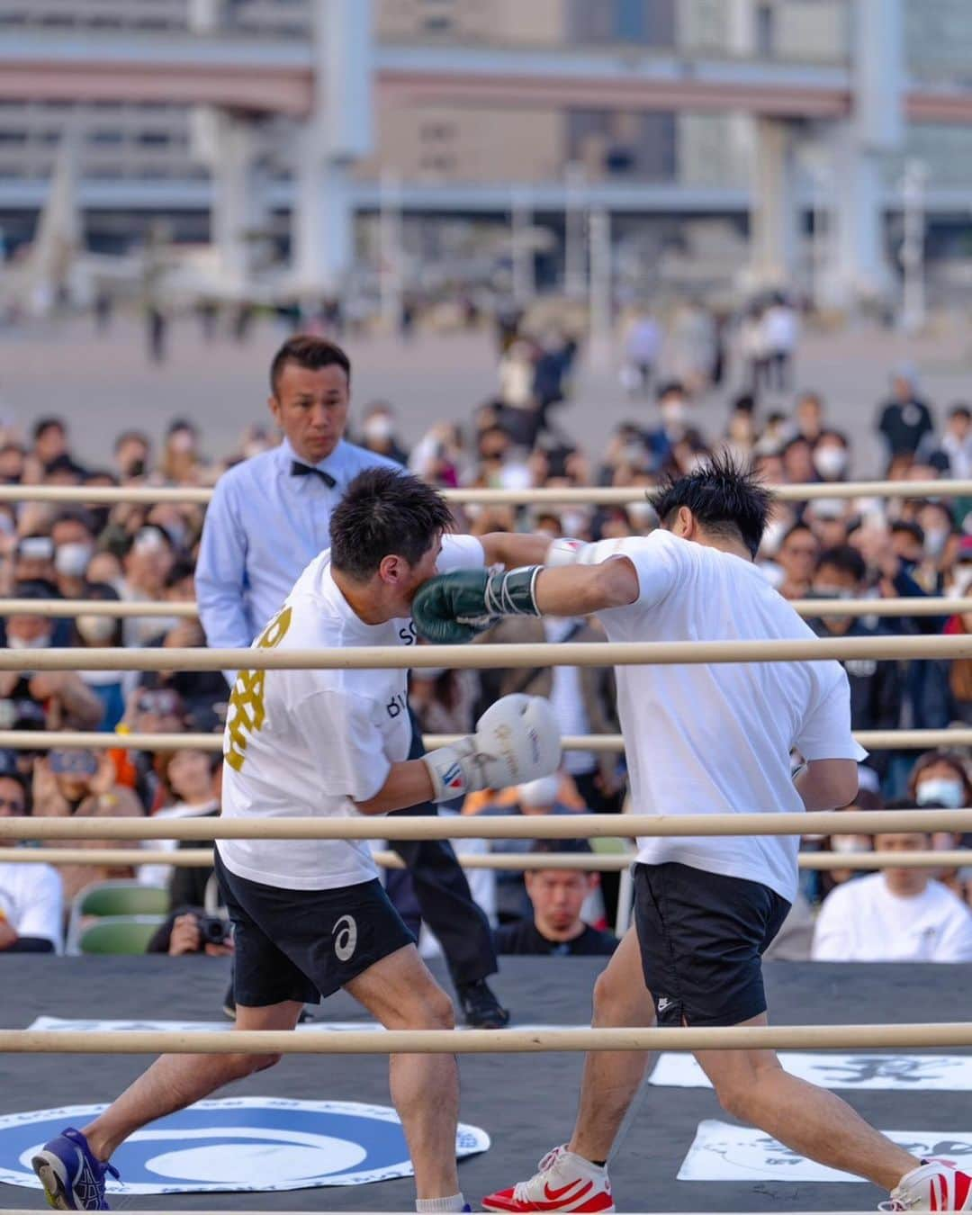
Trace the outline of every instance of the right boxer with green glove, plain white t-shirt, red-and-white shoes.
{"type": "MultiPolygon", "coordinates": [[[[663,486],[648,537],[555,542],[548,566],[431,580],[413,617],[434,642],[468,639],[502,615],[599,612],[612,642],[812,640],[753,565],[769,495],[729,459],[663,486]],[[553,560],[552,560],[553,558],[553,560]]],[[[835,809],[865,755],[850,734],[837,662],[622,666],[618,716],[637,814],[835,809]],[[796,748],[806,765],[791,776],[796,748]]],[[[635,926],[594,990],[595,1025],[767,1023],[762,954],[797,888],[796,837],[639,840],[635,926]]],[[[705,1051],[724,1108],[833,1169],[892,1191],[891,1209],[972,1209],[972,1179],[920,1164],[840,1097],[782,1070],[773,1051],[705,1051]],[[934,1196],[934,1208],[932,1205],[934,1196]]],[[[588,1056],[570,1143],[487,1210],[614,1210],[606,1160],[646,1057],[588,1056]]]]}

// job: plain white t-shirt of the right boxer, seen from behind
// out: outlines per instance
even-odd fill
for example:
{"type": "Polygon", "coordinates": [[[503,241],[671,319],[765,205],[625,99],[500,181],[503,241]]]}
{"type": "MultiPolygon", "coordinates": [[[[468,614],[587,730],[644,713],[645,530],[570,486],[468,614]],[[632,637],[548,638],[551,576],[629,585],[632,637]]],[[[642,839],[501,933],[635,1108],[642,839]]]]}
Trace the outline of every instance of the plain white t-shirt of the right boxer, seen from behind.
{"type": "MultiPolygon", "coordinates": [[[[815,634],[751,563],[650,536],[588,544],[582,564],[627,556],[638,599],[600,612],[611,642],[814,640],[815,634]]],[[[635,814],[798,813],[790,752],[863,759],[850,735],[840,663],[673,663],[616,668],[617,707],[635,814]]],[[[638,841],[645,864],[679,861],[762,882],[791,903],[797,836],[676,836],[638,841]]]]}

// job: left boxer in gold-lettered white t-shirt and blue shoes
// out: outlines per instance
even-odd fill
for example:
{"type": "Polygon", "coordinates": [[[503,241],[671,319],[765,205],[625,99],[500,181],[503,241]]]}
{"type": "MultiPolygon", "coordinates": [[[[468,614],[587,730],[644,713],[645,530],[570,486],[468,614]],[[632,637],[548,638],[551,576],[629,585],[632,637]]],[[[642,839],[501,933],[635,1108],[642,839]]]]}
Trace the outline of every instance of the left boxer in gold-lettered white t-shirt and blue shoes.
{"type": "MultiPolygon", "coordinates": [[[[543,560],[547,537],[443,535],[445,499],[417,477],[372,468],[330,519],[332,547],[254,642],[300,650],[413,645],[412,599],[437,570],[543,560]]],[[[505,696],[476,734],[408,759],[407,671],[242,671],[224,735],[225,818],[351,818],[556,770],[550,706],[505,696]]],[[[293,1029],[306,1001],[339,987],[388,1029],[443,1029],[452,1004],[418,955],[363,841],[224,840],[216,852],[233,922],[237,1029],[293,1029]]],[[[104,1209],[107,1163],[146,1123],[209,1096],[277,1056],[169,1055],[89,1126],[32,1159],[50,1204],[104,1209]]],[[[391,1095],[416,1174],[418,1210],[469,1210],[456,1171],[458,1068],[448,1055],[391,1058],[391,1095]]],[[[117,1175],[117,1174],[115,1174],[117,1175]]]]}

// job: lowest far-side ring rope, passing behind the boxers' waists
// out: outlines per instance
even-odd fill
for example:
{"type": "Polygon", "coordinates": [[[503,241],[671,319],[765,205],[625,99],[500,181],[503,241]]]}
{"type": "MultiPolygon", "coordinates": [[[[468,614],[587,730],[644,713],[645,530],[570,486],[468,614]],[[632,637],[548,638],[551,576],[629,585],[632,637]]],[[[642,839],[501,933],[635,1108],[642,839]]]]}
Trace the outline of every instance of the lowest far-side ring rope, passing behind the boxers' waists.
{"type": "MultiPolygon", "coordinates": [[[[626,835],[618,838],[627,840],[626,835]]],[[[208,848],[180,848],[176,852],[148,852],[143,848],[10,848],[0,854],[5,865],[171,865],[175,869],[211,869],[213,853],[208,848]]],[[[374,852],[372,859],[383,869],[405,869],[405,861],[394,852],[374,852]]],[[[548,852],[512,854],[490,853],[484,857],[458,855],[463,869],[490,869],[504,872],[527,872],[538,869],[566,869],[581,872],[623,872],[637,859],[633,849],[623,853],[548,852]]],[[[942,852],[803,852],[798,855],[801,869],[963,869],[972,865],[972,850],[951,848],[942,852]]]]}

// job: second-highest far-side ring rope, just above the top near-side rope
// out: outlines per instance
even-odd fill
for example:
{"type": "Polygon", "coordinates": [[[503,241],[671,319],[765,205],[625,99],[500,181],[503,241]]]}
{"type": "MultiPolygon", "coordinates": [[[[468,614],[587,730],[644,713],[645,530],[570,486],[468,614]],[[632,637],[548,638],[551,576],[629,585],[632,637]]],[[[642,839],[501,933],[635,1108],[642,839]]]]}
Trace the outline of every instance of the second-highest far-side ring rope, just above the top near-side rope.
{"type": "MultiPolygon", "coordinates": [[[[972,599],[905,597],[902,599],[791,599],[798,616],[957,616],[972,612],[972,599]]],[[[0,599],[0,616],[111,616],[139,620],[143,616],[176,616],[198,620],[199,609],[185,600],[158,599],[129,603],[115,599],[0,599]]]]}

